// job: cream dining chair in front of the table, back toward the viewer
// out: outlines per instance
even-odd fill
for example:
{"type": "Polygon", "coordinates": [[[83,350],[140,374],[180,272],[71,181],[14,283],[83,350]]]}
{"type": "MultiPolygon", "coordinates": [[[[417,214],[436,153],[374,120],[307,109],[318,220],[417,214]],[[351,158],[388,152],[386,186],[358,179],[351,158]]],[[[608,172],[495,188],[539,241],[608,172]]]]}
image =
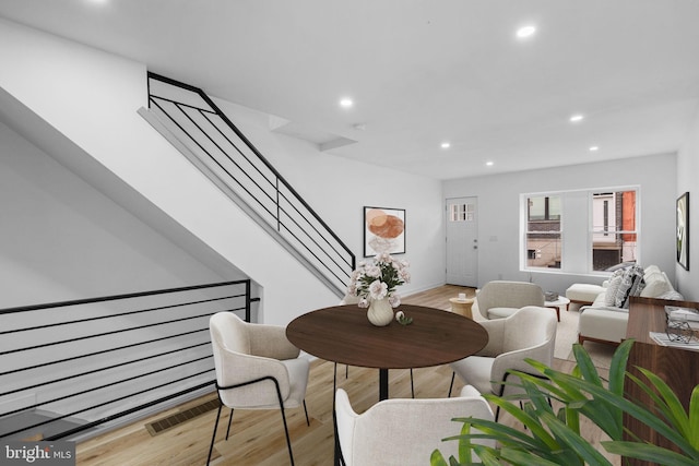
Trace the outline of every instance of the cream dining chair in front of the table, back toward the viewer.
{"type": "MultiPolygon", "coordinates": [[[[459,457],[458,435],[462,425],[455,417],[493,420],[488,403],[472,386],[453,398],[393,398],[371,406],[363,414],[352,408],[347,393],[335,392],[337,438],[345,466],[411,466],[429,464],[435,449],[448,458],[459,457]]],[[[491,440],[474,440],[495,446],[491,440]]],[[[472,456],[476,459],[476,456],[472,456]]]]}

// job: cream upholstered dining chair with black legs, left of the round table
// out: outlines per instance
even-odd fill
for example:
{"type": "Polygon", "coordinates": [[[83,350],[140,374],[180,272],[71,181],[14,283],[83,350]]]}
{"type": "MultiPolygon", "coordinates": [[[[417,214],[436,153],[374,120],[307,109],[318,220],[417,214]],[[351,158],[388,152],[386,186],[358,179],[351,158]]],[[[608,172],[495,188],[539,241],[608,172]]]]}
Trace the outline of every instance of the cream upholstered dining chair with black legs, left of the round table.
{"type": "Polygon", "coordinates": [[[284,409],[303,405],[306,423],[310,425],[305,401],[308,359],[298,357],[300,350],[286,338],[282,326],[251,324],[232,312],[218,312],[212,315],[209,330],[221,404],[206,464],[211,461],[221,410],[225,405],[230,408],[226,440],[235,408],[280,409],[288,456],[294,465],[284,409]]]}

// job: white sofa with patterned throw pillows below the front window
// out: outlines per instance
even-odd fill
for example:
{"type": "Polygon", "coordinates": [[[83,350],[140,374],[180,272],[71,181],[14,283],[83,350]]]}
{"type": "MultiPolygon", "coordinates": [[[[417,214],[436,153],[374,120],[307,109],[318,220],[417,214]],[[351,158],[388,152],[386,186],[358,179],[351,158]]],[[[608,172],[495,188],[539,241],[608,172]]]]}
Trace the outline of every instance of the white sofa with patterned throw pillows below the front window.
{"type": "MultiPolygon", "coordinates": [[[[571,297],[578,298],[577,301],[580,302],[585,299],[584,295],[580,295],[584,287],[577,285],[566,291],[566,297],[571,301],[573,300],[571,297]]],[[[595,292],[595,285],[588,287],[588,296],[595,292]]],[[[682,295],[675,291],[665,273],[655,265],[649,265],[645,268],[636,265],[616,271],[596,290],[599,294],[593,302],[580,308],[578,342],[581,345],[585,340],[618,345],[626,337],[630,296],[683,299],[682,295]]]]}

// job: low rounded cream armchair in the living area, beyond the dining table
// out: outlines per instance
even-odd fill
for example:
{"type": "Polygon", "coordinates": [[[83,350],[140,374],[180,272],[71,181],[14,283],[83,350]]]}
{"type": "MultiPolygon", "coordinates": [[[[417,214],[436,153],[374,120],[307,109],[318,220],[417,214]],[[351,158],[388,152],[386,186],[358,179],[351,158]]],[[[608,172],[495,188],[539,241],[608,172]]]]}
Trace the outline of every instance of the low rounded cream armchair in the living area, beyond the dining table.
{"type": "Polygon", "coordinates": [[[512,315],[525,306],[544,307],[542,287],[529,282],[488,282],[476,294],[476,307],[486,319],[512,315]]]}

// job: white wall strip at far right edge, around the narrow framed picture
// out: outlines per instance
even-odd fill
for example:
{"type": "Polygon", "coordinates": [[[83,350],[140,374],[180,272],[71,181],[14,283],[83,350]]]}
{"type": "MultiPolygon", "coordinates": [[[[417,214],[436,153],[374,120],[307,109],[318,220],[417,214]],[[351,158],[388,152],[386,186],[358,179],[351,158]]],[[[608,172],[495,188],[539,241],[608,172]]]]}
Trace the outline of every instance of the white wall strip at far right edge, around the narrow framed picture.
{"type": "Polygon", "coordinates": [[[675,266],[677,284],[690,301],[699,301],[699,109],[677,156],[677,191],[679,196],[689,192],[689,271],[675,266]]]}

